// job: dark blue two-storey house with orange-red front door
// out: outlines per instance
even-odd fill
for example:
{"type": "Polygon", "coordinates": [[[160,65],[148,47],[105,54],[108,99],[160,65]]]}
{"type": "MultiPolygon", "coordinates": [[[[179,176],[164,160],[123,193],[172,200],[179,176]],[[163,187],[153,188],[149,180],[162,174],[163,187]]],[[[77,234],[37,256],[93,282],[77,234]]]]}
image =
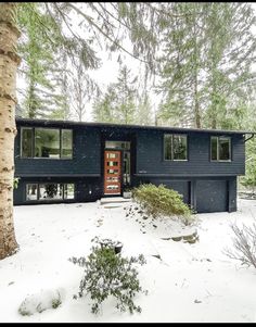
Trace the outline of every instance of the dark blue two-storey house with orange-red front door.
{"type": "Polygon", "coordinates": [[[16,118],[14,204],[95,201],[164,184],[195,211],[236,210],[247,131],[16,118]]]}

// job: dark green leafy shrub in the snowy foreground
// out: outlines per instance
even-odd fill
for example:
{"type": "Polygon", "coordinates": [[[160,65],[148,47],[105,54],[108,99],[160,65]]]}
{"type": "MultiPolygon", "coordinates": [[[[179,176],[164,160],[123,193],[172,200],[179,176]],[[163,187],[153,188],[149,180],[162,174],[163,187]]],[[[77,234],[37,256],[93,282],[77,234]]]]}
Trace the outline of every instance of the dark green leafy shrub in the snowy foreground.
{"type": "MultiPolygon", "coordinates": [[[[133,303],[133,298],[136,293],[146,291],[142,290],[138,271],[132,265],[136,263],[143,265],[144,256],[140,254],[138,257],[123,257],[108,247],[97,246],[91,250],[87,259],[84,256],[69,259],[74,264],[85,267],[78,297],[81,298],[84,293],[90,295],[93,301],[91,312],[94,314],[99,313],[100,305],[110,295],[116,298],[118,310],[141,312],[141,307],[133,303]]],[[[77,295],[74,298],[77,299],[77,295]]]]}

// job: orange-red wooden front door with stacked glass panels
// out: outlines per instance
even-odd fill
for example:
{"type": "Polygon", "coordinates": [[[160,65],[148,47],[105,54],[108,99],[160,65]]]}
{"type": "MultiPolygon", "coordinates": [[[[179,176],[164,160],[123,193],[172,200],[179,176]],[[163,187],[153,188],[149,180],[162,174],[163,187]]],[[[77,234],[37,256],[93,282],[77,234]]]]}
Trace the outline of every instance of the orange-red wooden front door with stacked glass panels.
{"type": "Polygon", "coordinates": [[[104,152],[104,193],[120,194],[121,176],[120,151],[105,150],[104,152]]]}

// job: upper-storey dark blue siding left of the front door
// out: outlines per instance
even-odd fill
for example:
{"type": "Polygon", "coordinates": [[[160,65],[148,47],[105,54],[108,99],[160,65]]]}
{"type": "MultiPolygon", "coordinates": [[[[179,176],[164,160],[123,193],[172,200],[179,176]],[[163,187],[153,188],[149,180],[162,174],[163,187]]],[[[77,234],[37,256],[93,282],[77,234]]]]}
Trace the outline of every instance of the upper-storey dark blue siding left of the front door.
{"type": "MultiPolygon", "coordinates": [[[[44,126],[43,126],[44,127],[44,126]]],[[[49,127],[49,126],[47,126],[49,127]]],[[[54,126],[53,126],[54,127],[54,126]]],[[[101,174],[101,134],[97,128],[73,129],[73,159],[22,159],[21,128],[15,138],[15,176],[101,174]]]]}

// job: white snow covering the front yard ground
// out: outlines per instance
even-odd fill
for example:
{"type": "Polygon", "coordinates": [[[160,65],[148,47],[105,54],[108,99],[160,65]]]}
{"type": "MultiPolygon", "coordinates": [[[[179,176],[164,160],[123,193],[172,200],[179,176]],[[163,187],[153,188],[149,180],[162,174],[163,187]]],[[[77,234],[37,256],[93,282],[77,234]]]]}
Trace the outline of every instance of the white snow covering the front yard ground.
{"type": "Polygon", "coordinates": [[[127,216],[128,205],[98,201],[16,206],[21,249],[0,261],[0,323],[256,322],[256,271],[222,253],[232,246],[230,223],[252,224],[256,200],[239,200],[235,213],[199,214],[200,240],[193,244],[166,239],[177,231],[174,223],[154,222],[154,227],[149,219],[127,216]],[[94,315],[89,298],[73,299],[82,268],[68,257],[87,256],[95,236],[120,240],[124,256],[144,254],[146,264],[138,269],[149,294],[135,299],[141,313],[120,313],[110,299],[94,315]],[[55,291],[62,297],[57,309],[30,316],[18,313],[26,297],[35,300],[55,291]]]}

